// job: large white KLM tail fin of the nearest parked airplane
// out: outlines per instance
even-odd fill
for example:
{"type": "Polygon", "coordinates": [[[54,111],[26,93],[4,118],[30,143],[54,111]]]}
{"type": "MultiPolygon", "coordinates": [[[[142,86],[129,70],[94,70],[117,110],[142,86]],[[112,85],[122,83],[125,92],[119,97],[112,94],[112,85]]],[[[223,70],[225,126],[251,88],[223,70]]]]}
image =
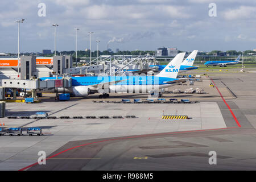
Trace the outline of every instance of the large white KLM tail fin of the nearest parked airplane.
{"type": "Polygon", "coordinates": [[[170,61],[169,64],[156,76],[158,77],[168,77],[168,78],[176,78],[177,74],[180,70],[180,65],[184,59],[185,52],[178,53],[174,59],[170,61]]]}

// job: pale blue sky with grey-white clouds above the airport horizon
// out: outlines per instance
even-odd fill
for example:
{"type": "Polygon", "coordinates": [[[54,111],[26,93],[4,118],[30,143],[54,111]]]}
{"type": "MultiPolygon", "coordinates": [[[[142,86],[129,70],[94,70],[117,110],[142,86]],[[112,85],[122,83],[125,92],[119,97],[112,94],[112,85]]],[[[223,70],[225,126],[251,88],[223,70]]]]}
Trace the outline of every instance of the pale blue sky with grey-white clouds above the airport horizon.
{"type": "Polygon", "coordinates": [[[78,49],[115,51],[156,50],[176,47],[182,51],[256,48],[255,0],[1,0],[0,52],[78,49]],[[40,6],[40,5],[45,5],[40,6]],[[216,9],[211,3],[216,5],[216,9]],[[45,11],[44,11],[45,10],[45,11]],[[44,14],[45,12],[45,14],[44,14]],[[44,16],[45,15],[45,16],[44,16]],[[213,16],[214,15],[214,16],[213,16]]]}

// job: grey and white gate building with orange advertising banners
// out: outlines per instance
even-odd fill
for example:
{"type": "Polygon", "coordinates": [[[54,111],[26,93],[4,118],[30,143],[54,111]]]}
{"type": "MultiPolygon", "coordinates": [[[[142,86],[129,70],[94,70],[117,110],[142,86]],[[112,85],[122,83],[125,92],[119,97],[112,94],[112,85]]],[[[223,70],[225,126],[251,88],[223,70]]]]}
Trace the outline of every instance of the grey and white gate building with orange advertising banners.
{"type": "Polygon", "coordinates": [[[18,58],[0,58],[0,80],[1,79],[30,79],[31,77],[49,77],[67,73],[73,64],[72,56],[36,57],[20,56],[18,58]],[[19,73],[19,76],[18,76],[19,73]]]}

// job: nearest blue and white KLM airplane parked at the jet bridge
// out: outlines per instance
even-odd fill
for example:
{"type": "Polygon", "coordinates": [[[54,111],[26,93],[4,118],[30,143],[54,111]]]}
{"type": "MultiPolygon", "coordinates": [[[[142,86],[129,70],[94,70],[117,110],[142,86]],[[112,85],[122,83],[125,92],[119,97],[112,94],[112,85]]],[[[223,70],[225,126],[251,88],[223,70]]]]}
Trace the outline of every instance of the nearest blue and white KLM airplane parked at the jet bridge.
{"type": "MultiPolygon", "coordinates": [[[[177,54],[158,75],[155,76],[86,76],[71,77],[72,86],[67,88],[69,93],[77,97],[101,93],[100,98],[109,97],[109,93],[156,93],[169,86],[185,82],[177,78],[185,52],[177,54]]],[[[59,77],[62,79],[62,77],[59,77]]],[[[56,80],[56,77],[43,77],[40,80],[56,80]]],[[[66,89],[65,89],[66,90],[66,89]]],[[[159,94],[160,95],[160,94],[159,94]]]]}

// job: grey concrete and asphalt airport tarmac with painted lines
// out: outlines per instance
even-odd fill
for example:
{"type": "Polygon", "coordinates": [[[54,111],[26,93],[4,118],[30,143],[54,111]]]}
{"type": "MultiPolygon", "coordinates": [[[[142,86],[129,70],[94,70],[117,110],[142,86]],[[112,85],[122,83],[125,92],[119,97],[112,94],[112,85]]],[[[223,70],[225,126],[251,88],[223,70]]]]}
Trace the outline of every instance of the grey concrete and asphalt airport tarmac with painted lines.
{"type": "MultiPolygon", "coordinates": [[[[256,75],[236,70],[207,74],[209,77],[202,77],[203,81],[193,86],[168,89],[199,87],[205,94],[163,94],[166,100],[185,98],[197,101],[195,104],[94,103],[102,100],[97,94],[67,102],[56,102],[54,94],[43,94],[39,104],[7,103],[7,115],[31,116],[46,111],[57,117],[137,118],[4,118],[1,121],[6,127],[41,127],[44,135],[1,136],[0,170],[254,170],[256,75]],[[210,87],[210,82],[218,89],[210,87]],[[161,119],[163,113],[184,114],[191,119],[165,120],[161,119]],[[46,165],[36,163],[39,151],[46,152],[46,165]],[[216,165],[209,164],[210,151],[217,153],[216,165]]],[[[110,94],[105,100],[122,98],[146,99],[148,95],[110,94]]]]}

